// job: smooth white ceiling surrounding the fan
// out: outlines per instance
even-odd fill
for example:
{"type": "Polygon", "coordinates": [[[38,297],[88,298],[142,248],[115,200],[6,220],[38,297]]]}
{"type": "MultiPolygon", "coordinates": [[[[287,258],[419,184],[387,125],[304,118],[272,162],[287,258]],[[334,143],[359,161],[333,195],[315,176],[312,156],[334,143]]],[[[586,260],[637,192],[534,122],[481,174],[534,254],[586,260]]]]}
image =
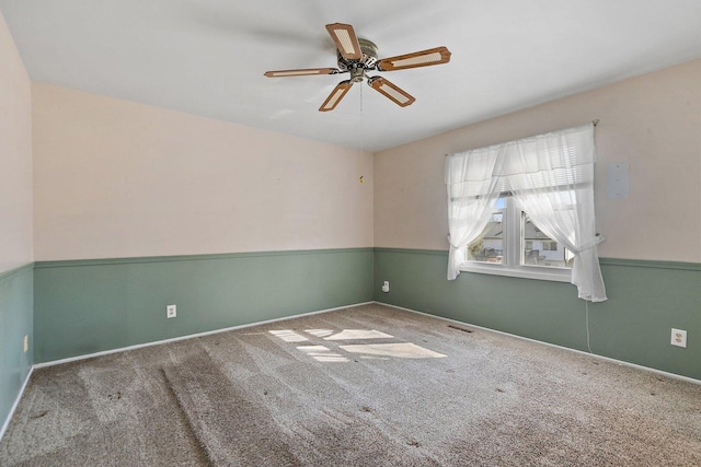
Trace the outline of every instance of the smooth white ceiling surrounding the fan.
{"type": "MultiPolygon", "coordinates": [[[[378,151],[701,56],[699,0],[0,0],[30,77],[378,151]],[[349,23],[380,58],[445,45],[447,65],[381,73],[401,108],[335,67],[324,25],[349,23]]],[[[371,73],[372,74],[372,73],[371,73]]],[[[380,73],[375,73],[380,74],[380,73]]]]}

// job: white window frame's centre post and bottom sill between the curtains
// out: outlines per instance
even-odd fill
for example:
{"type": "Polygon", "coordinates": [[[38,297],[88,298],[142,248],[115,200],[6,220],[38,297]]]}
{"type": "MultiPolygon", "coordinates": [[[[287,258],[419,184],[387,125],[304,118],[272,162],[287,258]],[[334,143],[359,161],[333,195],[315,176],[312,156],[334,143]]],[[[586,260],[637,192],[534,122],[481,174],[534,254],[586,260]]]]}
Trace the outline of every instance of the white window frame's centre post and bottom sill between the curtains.
{"type": "MultiPolygon", "coordinates": [[[[513,278],[547,280],[555,282],[571,282],[572,268],[555,268],[552,266],[527,266],[522,264],[521,242],[524,240],[524,210],[516,203],[514,197],[504,194],[503,215],[503,262],[485,262],[466,260],[461,271],[481,275],[507,276],[513,278]]],[[[496,212],[496,210],[494,211],[496,212]]]]}

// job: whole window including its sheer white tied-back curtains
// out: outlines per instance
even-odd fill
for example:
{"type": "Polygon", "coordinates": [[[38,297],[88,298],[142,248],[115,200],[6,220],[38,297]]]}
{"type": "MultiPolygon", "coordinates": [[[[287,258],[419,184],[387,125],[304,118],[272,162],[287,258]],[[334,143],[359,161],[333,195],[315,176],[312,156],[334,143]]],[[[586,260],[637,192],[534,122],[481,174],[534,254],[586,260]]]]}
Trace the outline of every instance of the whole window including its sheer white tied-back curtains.
{"type": "Polygon", "coordinates": [[[448,280],[462,270],[570,281],[601,302],[594,125],[449,154],[448,280]]]}

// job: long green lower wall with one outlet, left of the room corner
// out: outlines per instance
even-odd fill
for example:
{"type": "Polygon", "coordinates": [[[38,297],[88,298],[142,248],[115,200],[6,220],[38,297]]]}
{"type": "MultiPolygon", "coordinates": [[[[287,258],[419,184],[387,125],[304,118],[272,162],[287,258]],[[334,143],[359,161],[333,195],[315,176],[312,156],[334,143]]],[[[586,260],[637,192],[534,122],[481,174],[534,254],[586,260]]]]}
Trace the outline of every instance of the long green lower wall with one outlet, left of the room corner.
{"type": "Polygon", "coordinates": [[[372,260],[349,248],[38,261],[34,361],[368,302],[372,260]]]}

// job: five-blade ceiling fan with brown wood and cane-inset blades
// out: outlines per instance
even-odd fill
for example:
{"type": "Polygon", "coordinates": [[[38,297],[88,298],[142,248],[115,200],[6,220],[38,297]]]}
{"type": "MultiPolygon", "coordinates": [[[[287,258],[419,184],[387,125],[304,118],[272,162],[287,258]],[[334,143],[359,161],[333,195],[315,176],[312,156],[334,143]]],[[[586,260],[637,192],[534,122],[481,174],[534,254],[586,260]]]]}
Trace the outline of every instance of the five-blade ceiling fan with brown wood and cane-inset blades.
{"type": "Polygon", "coordinates": [[[336,45],[338,68],[307,68],[301,70],[267,71],[268,78],[303,77],[311,74],[350,73],[350,79],[341,81],[319,107],[320,112],[333,110],[354,83],[368,81],[368,85],[401,107],[416,101],[406,91],[382,77],[368,77],[368,71],[394,71],[407,68],[428,67],[450,61],[446,47],[436,47],[397,57],[377,58],[377,46],[367,39],[359,39],[349,24],[326,24],[326,31],[336,45]]]}

